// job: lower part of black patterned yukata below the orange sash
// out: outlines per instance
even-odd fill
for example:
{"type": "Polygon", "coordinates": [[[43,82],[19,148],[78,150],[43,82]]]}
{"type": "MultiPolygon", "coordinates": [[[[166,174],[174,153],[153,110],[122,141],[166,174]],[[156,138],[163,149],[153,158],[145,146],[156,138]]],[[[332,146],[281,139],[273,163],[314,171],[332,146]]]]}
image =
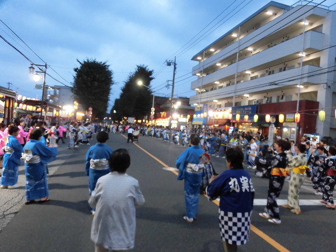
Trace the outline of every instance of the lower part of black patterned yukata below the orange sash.
{"type": "Polygon", "coordinates": [[[282,187],[284,186],[285,177],[271,175],[270,182],[268,183],[267,192],[267,205],[265,212],[269,214],[272,218],[280,220],[279,206],[277,200],[280,196],[282,187]]]}

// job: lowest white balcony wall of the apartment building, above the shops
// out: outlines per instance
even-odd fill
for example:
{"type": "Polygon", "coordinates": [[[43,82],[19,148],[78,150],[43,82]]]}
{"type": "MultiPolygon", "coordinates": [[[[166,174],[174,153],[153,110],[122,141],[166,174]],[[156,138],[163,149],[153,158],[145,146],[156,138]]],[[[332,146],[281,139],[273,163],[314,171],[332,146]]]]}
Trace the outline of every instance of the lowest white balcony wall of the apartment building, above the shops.
{"type": "MultiPolygon", "coordinates": [[[[302,76],[305,77],[309,73],[319,73],[321,68],[307,65],[302,67],[302,76]],[[317,71],[317,72],[315,72],[317,71]]],[[[232,98],[233,95],[242,95],[245,93],[249,94],[258,94],[271,91],[277,91],[286,89],[289,86],[297,85],[300,83],[301,68],[294,68],[291,70],[286,70],[281,73],[266,75],[262,78],[257,78],[250,81],[245,81],[238,83],[235,87],[228,86],[221,89],[216,89],[201,94],[201,103],[207,103],[207,101],[212,101],[214,99],[221,100],[232,98]],[[281,83],[279,83],[281,82],[281,83]],[[281,84],[281,85],[277,85],[281,84]]],[[[310,83],[310,84],[320,84],[320,76],[312,76],[303,78],[301,83],[310,83]]],[[[200,94],[190,97],[190,104],[198,103],[200,99],[200,94]]]]}

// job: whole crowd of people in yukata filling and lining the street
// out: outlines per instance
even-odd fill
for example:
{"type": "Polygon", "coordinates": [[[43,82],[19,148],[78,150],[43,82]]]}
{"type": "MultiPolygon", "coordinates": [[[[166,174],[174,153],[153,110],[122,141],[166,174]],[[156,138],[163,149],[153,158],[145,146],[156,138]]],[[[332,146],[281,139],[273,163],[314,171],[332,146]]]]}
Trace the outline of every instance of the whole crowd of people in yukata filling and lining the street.
{"type": "Polygon", "coordinates": [[[89,204],[94,215],[91,238],[96,251],[130,249],[135,240],[135,207],[144,204],[145,200],[138,180],[126,173],[130,164],[128,152],[125,149],[113,151],[106,141],[109,134],[127,132],[127,143],[133,142],[134,131],[145,137],[189,147],[176,161],[177,179],[184,181],[186,215],[183,220],[188,223],[195,220],[200,193],[205,192],[209,200],[220,198],[219,223],[226,251],[236,251],[238,245],[248,241],[254,188],[250,173],[244,171],[244,162],[247,168],[255,169],[255,176],[269,180],[267,204],[264,212],[259,213],[268,222],[281,224],[277,199],[286,178],[290,184],[284,208],[301,214],[299,192],[308,179],[315,194],[322,197],[320,202],[327,209],[335,209],[336,147],[329,146],[323,139],[318,142],[317,137],[305,136],[296,144],[280,136],[268,142],[267,137],[258,132],[177,130],[107,122],[43,121],[34,117],[17,119],[8,127],[0,123],[0,162],[3,162],[0,165],[3,166],[0,188],[18,187],[18,167],[23,159],[25,204],[49,201],[47,164],[55,160],[59,141],[65,143],[64,139],[69,138],[67,148],[77,149],[80,144],[90,145],[89,140],[96,134],[98,143],[89,148],[85,168],[89,176],[89,204]],[[210,156],[226,159],[228,170],[218,175],[210,156]],[[107,222],[114,224],[102,224],[107,222]],[[107,233],[108,239],[104,238],[107,233]]]}

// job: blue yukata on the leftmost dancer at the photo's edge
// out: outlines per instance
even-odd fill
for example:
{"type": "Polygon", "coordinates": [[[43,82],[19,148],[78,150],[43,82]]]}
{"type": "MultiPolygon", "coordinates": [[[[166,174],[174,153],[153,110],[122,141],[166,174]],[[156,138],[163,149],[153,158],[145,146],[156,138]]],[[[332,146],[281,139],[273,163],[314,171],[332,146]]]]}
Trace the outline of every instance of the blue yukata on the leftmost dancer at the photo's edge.
{"type": "Polygon", "coordinates": [[[18,183],[22,146],[16,137],[13,136],[8,136],[8,144],[6,146],[12,148],[14,152],[6,152],[4,154],[4,170],[1,177],[1,184],[11,186],[18,183]]]}

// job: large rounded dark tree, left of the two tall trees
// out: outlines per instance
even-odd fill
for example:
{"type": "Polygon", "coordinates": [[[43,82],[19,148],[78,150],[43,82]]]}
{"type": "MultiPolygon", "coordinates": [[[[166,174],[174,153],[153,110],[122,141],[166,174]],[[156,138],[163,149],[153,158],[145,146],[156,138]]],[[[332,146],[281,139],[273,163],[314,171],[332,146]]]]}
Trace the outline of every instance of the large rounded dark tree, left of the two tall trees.
{"type": "Polygon", "coordinates": [[[105,62],[98,62],[96,59],[79,61],[80,67],[75,68],[74,85],[72,92],[75,99],[84,109],[92,107],[92,118],[102,119],[107,110],[113,72],[105,62]]]}

